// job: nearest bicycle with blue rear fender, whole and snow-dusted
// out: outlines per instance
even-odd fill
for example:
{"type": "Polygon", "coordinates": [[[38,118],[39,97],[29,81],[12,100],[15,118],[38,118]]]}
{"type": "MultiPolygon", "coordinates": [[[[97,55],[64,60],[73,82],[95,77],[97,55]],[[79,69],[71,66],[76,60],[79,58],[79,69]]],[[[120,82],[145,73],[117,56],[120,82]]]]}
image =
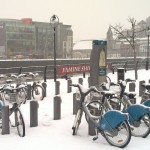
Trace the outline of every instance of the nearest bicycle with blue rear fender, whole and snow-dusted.
{"type": "Polygon", "coordinates": [[[95,126],[96,137],[94,137],[93,140],[96,140],[98,138],[98,133],[100,133],[112,146],[120,148],[127,146],[131,140],[131,130],[128,124],[128,114],[117,110],[110,110],[106,112],[105,105],[101,105],[99,115],[95,116],[90,113],[90,110],[88,109],[85,102],[85,97],[90,92],[101,93],[103,95],[102,103],[107,101],[108,97],[114,93],[110,93],[109,91],[99,92],[95,87],[90,87],[85,91],[80,84],[71,84],[70,86],[77,87],[81,94],[79,107],[72,127],[73,135],[77,134],[79,125],[81,123],[82,114],[84,112],[87,115],[87,118],[95,126]]]}

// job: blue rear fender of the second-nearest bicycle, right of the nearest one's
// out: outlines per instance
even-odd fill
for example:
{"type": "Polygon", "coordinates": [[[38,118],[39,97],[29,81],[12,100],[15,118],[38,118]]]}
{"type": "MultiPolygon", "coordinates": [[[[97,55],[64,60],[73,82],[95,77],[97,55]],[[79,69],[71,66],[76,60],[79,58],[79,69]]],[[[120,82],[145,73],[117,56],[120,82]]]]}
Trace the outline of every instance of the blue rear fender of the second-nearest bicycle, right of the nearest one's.
{"type": "Polygon", "coordinates": [[[134,104],[127,108],[129,122],[138,121],[143,115],[150,113],[149,108],[142,104],[134,104]]]}

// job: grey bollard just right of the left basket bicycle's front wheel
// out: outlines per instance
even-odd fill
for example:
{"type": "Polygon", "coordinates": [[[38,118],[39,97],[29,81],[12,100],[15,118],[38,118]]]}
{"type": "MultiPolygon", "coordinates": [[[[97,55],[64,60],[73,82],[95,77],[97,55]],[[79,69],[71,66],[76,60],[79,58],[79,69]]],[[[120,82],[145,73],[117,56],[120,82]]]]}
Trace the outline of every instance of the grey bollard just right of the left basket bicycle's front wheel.
{"type": "Polygon", "coordinates": [[[38,126],[38,107],[37,101],[30,102],[30,127],[38,126]]]}

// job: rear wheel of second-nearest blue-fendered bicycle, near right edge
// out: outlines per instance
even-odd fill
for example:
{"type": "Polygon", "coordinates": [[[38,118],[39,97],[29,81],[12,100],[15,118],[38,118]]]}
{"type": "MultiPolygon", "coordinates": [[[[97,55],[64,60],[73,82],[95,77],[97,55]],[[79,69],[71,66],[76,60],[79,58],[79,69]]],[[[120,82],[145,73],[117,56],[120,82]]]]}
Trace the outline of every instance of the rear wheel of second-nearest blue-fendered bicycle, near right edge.
{"type": "Polygon", "coordinates": [[[143,115],[139,121],[130,123],[130,128],[133,136],[146,138],[150,133],[150,116],[143,115]]]}

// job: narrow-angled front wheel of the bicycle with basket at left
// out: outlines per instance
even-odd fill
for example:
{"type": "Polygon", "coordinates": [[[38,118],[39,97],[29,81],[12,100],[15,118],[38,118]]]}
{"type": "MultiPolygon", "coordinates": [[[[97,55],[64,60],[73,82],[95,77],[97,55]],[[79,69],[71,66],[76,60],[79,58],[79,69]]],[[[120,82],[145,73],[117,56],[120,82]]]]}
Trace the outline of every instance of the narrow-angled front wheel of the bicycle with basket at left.
{"type": "Polygon", "coordinates": [[[24,137],[25,136],[25,123],[24,123],[22,113],[19,108],[17,108],[14,113],[15,113],[15,124],[17,127],[18,135],[20,137],[24,137]]]}

